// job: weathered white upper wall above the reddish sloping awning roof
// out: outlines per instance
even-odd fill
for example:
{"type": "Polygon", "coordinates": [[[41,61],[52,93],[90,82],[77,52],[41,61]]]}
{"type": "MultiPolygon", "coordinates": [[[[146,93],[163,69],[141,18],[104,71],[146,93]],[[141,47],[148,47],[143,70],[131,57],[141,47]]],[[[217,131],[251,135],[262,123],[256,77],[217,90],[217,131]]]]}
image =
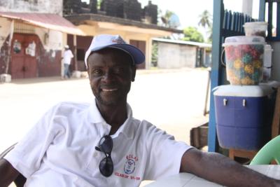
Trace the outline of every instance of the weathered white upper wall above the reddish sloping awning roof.
{"type": "Polygon", "coordinates": [[[0,11],[62,15],[63,0],[1,0],[0,11]]]}

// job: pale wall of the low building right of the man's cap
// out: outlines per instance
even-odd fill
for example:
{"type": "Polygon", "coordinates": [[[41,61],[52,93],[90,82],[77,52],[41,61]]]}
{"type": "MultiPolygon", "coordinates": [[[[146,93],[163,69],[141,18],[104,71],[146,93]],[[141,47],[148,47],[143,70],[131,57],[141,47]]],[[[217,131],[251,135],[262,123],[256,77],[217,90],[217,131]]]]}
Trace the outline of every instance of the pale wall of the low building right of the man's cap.
{"type": "Polygon", "coordinates": [[[161,69],[195,68],[195,60],[195,46],[158,42],[158,67],[161,69]]]}

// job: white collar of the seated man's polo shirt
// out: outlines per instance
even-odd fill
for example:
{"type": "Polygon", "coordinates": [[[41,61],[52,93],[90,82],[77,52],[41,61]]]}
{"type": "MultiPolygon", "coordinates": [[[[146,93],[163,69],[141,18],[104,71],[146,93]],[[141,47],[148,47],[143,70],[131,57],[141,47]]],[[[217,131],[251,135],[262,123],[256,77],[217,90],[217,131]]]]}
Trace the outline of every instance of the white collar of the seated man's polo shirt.
{"type": "MultiPolygon", "coordinates": [[[[132,118],[132,108],[130,107],[130,104],[127,104],[127,119],[125,120],[125,123],[123,123],[123,125],[120,126],[117,132],[112,135],[112,137],[114,138],[118,137],[119,134],[124,134],[125,137],[127,137],[128,139],[132,139],[134,136],[132,118]]],[[[90,104],[90,107],[88,109],[87,119],[90,123],[106,123],[106,121],[104,120],[97,108],[95,99],[90,104]]]]}

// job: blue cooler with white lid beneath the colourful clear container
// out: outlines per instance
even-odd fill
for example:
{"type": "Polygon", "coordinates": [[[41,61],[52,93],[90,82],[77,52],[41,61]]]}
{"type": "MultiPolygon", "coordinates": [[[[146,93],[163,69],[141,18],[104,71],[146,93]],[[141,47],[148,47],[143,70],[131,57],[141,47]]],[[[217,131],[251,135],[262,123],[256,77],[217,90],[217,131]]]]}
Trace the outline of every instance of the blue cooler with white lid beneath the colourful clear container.
{"type": "Polygon", "coordinates": [[[218,142],[223,148],[258,150],[271,139],[271,85],[221,85],[214,89],[218,142]]]}

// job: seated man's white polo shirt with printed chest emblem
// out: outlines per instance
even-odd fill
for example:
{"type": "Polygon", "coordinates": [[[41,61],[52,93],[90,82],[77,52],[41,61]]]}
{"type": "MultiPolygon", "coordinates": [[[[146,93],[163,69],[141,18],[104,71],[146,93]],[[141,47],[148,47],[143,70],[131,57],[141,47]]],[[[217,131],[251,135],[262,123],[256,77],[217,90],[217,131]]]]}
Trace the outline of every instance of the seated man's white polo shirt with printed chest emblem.
{"type": "Polygon", "coordinates": [[[104,153],[95,150],[111,125],[95,102],[63,102],[45,113],[5,157],[25,177],[25,186],[139,186],[179,173],[183,153],[191,148],[146,120],[128,116],[113,134],[113,174],[99,172],[104,153]]]}

